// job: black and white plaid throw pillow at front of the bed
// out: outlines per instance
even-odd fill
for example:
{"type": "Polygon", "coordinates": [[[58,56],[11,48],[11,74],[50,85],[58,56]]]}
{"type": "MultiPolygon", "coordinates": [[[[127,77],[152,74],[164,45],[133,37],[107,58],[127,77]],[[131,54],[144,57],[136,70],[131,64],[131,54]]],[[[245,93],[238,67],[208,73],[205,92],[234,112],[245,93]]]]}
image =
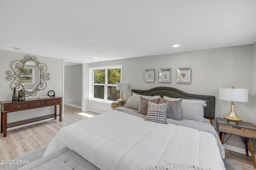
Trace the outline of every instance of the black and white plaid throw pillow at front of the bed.
{"type": "Polygon", "coordinates": [[[157,123],[167,123],[166,110],[169,102],[164,104],[155,104],[148,101],[148,113],[146,115],[146,121],[154,121],[157,123]]]}

